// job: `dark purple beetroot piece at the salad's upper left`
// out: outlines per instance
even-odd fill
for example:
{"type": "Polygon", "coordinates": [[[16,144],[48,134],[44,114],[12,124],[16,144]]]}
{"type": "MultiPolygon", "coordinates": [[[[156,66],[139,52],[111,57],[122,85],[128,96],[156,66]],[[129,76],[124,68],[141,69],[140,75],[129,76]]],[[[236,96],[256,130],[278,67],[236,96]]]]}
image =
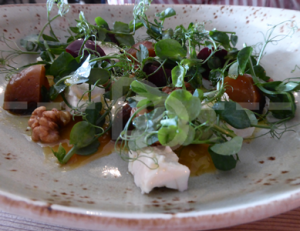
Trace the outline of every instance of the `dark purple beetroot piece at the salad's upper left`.
{"type": "MultiPolygon", "coordinates": [[[[74,42],[72,42],[71,44],[69,44],[67,46],[66,52],[70,53],[74,58],[77,57],[79,55],[78,52],[80,51],[83,41],[84,41],[83,39],[75,40],[74,42]]],[[[91,49],[91,50],[95,50],[95,43],[91,40],[87,40],[86,43],[84,44],[84,47],[91,49]]],[[[97,48],[97,52],[100,54],[100,56],[106,55],[100,46],[97,45],[96,48],[97,48]]],[[[84,51],[84,57],[86,57],[88,55],[89,55],[89,52],[84,51]]],[[[96,52],[95,52],[95,55],[97,55],[96,52]]]]}

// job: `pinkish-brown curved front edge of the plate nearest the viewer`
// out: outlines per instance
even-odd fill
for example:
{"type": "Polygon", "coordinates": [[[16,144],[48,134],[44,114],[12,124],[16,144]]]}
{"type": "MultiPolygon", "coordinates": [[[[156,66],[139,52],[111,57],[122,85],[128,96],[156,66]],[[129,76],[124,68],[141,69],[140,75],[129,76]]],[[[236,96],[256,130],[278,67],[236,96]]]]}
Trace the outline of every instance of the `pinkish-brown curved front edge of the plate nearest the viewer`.
{"type": "MultiPolygon", "coordinates": [[[[63,211],[53,208],[52,204],[43,202],[29,203],[25,200],[16,200],[0,192],[0,206],[6,212],[19,216],[42,221],[49,224],[90,230],[207,230],[224,228],[249,223],[280,213],[287,212],[300,206],[300,192],[289,195],[287,198],[274,200],[266,204],[237,209],[231,212],[218,214],[195,215],[178,217],[176,214],[164,218],[140,217],[122,218],[101,215],[63,211]]],[[[100,213],[99,213],[100,214],[100,213]]]]}

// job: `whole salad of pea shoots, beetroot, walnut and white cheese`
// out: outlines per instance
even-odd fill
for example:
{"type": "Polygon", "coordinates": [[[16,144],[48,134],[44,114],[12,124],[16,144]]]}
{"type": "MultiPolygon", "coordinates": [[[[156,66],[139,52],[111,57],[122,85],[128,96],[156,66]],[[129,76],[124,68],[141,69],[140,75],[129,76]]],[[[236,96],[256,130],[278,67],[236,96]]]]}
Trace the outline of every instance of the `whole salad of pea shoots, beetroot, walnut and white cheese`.
{"type": "Polygon", "coordinates": [[[47,24],[22,40],[24,49],[2,39],[10,48],[2,51],[7,65],[1,72],[9,81],[3,107],[30,114],[32,140],[59,144],[53,155],[61,165],[74,155],[93,155],[110,136],[143,193],[161,186],[183,191],[191,173],[187,147],[207,150],[214,168],[229,171],[238,164],[244,140],[258,138],[255,128],[275,138],[290,130],[298,78],[273,81],[261,59],[269,43],[297,28],[274,35],[280,25],[271,27],[257,52],[253,45],[236,48],[235,32],[208,31],[205,23],[165,28],[164,21],[176,15],[172,8],[151,22],[149,4],[140,1],[133,20],[117,21],[113,28],[101,17],[88,22],[80,12],[70,36],[60,41],[51,23],[65,17],[69,6],[58,2],[58,14],[50,17],[49,0],[47,24]],[[140,28],[146,38],[137,42],[140,28]],[[22,54],[38,59],[17,68],[9,64],[22,54]],[[38,107],[53,101],[62,101],[65,110],[38,107]],[[66,150],[60,131],[70,123],[66,150]]]}

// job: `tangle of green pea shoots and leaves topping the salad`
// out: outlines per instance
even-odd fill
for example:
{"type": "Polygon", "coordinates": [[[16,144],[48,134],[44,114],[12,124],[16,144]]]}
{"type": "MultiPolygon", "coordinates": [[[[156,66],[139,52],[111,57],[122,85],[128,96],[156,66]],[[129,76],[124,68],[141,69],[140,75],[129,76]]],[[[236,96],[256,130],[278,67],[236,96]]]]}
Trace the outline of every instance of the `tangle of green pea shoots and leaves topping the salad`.
{"type": "Polygon", "coordinates": [[[121,106],[114,112],[119,103],[134,105],[136,109],[128,116],[116,141],[116,151],[127,161],[136,160],[127,155],[128,151],[151,145],[209,144],[215,167],[228,171],[236,167],[245,140],[235,129],[263,128],[278,139],[292,130],[287,122],[296,113],[294,93],[300,90],[299,77],[270,82],[260,61],[266,46],[292,36],[297,29],[295,25],[284,35],[274,33],[287,22],[271,27],[264,35],[260,52],[255,54],[254,46],[244,44],[242,49],[236,48],[238,36],[232,31],[208,31],[204,23],[192,22],[187,27],[165,28],[166,18],[176,15],[172,8],[157,13],[151,22],[146,14],[150,3],[139,1],[133,9],[133,20],[117,21],[112,28],[102,17],[89,22],[80,12],[76,26],[68,29],[70,36],[61,42],[51,23],[65,17],[69,6],[59,1],[58,14],[51,18],[54,1],[48,0],[48,21],[38,36],[24,38],[24,50],[2,38],[10,51],[1,51],[1,62],[6,64],[1,72],[10,76],[30,65],[45,65],[47,75],[54,82],[45,93],[48,99],[55,100],[60,95],[73,116],[82,119],[70,133],[71,150],[66,152],[60,145],[58,151],[53,151],[60,164],[66,164],[74,154],[97,152],[101,146],[99,137],[114,129],[117,119],[114,116],[122,110],[121,106]],[[143,43],[133,46],[136,31],[143,27],[148,40],[153,42],[152,48],[143,43]],[[46,28],[49,34],[44,33],[46,28]],[[117,52],[105,54],[99,44],[109,44],[117,52]],[[136,52],[129,52],[129,48],[136,52]],[[41,61],[19,68],[8,64],[23,54],[38,54],[41,61]],[[269,100],[264,111],[257,113],[243,108],[241,102],[228,97],[228,89],[233,86],[225,79],[236,80],[244,75],[251,75],[259,94],[269,100]],[[166,84],[157,86],[157,79],[166,84]],[[209,87],[205,81],[210,83],[209,87]],[[72,106],[65,93],[71,86],[80,84],[87,84],[88,90],[72,106]],[[92,92],[96,88],[105,90],[101,102],[93,101],[92,92]],[[275,122],[269,121],[269,116],[275,122]]]}

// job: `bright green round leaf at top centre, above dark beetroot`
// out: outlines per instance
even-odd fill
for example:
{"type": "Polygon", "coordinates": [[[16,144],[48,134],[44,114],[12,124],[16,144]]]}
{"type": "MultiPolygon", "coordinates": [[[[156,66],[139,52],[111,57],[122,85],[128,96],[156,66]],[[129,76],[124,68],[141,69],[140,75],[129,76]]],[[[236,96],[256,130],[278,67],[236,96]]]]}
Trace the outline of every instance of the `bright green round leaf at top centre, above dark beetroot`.
{"type": "Polygon", "coordinates": [[[160,40],[155,44],[154,49],[159,58],[173,61],[180,61],[187,53],[181,44],[173,39],[160,40]]]}

